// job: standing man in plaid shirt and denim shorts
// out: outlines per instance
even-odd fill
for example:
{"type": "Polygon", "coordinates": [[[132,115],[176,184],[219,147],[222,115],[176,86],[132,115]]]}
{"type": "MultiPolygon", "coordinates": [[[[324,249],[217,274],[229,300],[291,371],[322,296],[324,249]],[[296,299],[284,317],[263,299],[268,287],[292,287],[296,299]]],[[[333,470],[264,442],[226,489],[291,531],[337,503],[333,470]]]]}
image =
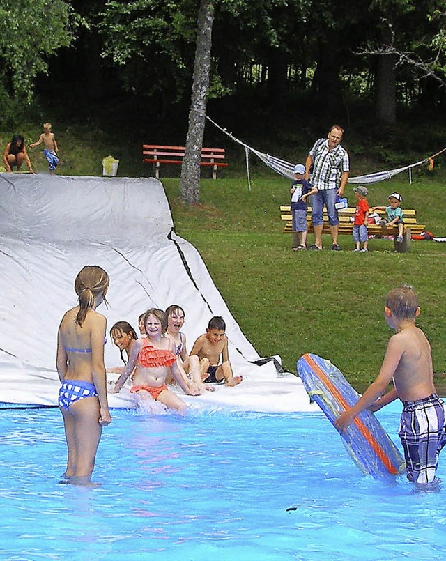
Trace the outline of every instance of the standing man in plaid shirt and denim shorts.
{"type": "Polygon", "coordinates": [[[334,206],[336,197],[344,192],[350,171],[348,153],[341,146],[344,129],[339,125],[333,125],[328,132],[327,139],[319,139],[314,143],[305,161],[305,179],[316,187],[318,192],[312,195],[312,224],[314,231],[314,245],[309,249],[322,249],[324,205],[327,207],[328,224],[332,236],[332,249],[340,251],[337,243],[339,219],[334,206]],[[312,175],[309,170],[313,167],[312,175]]]}

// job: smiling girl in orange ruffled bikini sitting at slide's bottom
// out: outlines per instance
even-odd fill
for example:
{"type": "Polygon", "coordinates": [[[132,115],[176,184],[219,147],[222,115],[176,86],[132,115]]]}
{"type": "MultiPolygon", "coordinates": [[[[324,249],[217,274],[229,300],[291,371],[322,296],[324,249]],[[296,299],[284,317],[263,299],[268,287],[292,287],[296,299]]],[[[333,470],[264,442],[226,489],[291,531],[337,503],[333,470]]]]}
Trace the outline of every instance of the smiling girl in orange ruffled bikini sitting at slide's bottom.
{"type": "Polygon", "coordinates": [[[166,385],[169,371],[185,394],[199,395],[200,392],[187,385],[187,376],[175,354],[175,343],[164,335],[167,330],[166,314],[162,309],[148,309],[144,316],[144,327],[146,337],[134,342],[123,374],[119,376],[114,390],[109,391],[119,392],[137,366],[130,392],[136,393],[143,401],[155,399],[168,408],[185,412],[185,402],[166,385]]]}

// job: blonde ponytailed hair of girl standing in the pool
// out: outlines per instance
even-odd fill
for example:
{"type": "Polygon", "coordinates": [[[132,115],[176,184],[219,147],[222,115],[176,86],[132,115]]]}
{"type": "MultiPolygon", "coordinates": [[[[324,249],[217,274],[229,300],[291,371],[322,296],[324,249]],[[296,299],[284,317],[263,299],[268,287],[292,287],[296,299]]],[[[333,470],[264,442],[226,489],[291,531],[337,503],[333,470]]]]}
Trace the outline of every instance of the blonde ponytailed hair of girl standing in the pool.
{"type": "Polygon", "coordinates": [[[95,297],[102,295],[104,298],[109,288],[109,275],[104,269],[97,265],[86,265],[78,273],[75,279],[75,292],[79,297],[79,312],[77,312],[76,323],[82,325],[86,313],[95,305],[95,297]]]}

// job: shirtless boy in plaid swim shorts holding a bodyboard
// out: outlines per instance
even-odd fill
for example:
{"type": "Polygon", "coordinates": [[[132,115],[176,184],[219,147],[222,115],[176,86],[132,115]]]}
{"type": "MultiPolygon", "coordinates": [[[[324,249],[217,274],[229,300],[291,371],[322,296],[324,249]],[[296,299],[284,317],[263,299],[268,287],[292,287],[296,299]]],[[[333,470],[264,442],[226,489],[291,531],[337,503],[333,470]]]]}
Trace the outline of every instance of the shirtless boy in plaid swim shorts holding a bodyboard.
{"type": "Polygon", "coordinates": [[[399,438],[404,449],[409,481],[420,489],[438,483],[435,477],[438,453],[446,444],[445,408],[433,385],[431,346],[415,318],[420,315],[417,295],[410,286],[390,291],[384,316],[395,335],[390,337],[378,377],[334,426],[345,432],[353,419],[367,407],[377,411],[399,398],[403,411],[399,438]],[[387,385],[394,387],[383,397],[387,385]],[[379,399],[380,398],[380,399],[379,399]]]}

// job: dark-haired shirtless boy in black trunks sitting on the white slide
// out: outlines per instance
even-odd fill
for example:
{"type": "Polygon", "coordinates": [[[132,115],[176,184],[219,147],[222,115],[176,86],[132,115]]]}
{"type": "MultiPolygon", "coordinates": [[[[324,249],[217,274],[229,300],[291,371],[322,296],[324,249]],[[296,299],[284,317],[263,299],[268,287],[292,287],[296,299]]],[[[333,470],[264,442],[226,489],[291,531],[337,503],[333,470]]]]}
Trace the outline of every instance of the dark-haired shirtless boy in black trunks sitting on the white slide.
{"type": "Polygon", "coordinates": [[[237,385],[242,376],[234,376],[229,362],[228,337],[224,335],[226,323],[220,316],[214,316],[208,323],[206,333],[194,342],[190,355],[198,355],[204,383],[221,382],[226,385],[237,385]],[[222,364],[220,362],[222,357],[222,364]]]}

